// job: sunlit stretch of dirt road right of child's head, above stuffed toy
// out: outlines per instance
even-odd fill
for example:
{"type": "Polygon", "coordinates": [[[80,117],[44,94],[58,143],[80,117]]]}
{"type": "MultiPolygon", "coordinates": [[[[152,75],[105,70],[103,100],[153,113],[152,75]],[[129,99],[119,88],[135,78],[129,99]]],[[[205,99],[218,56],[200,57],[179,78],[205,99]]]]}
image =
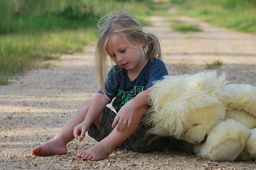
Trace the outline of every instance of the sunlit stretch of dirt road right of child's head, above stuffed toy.
{"type": "Polygon", "coordinates": [[[164,61],[170,74],[196,73],[205,69],[207,63],[221,61],[218,72],[226,72],[233,83],[256,85],[256,37],[227,29],[209,26],[197,19],[180,17],[182,22],[198,24],[199,33],[178,33],[170,31],[171,20],[150,18],[155,27],[148,27],[157,33],[163,43],[164,61]]]}

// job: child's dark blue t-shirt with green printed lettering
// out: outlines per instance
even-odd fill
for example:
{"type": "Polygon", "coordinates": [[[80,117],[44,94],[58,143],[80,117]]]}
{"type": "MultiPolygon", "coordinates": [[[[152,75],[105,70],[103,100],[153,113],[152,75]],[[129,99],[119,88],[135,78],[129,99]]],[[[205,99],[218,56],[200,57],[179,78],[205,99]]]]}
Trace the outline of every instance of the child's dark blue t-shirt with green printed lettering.
{"type": "MultiPolygon", "coordinates": [[[[112,106],[118,112],[129,100],[153,86],[153,82],[162,79],[167,74],[166,65],[157,58],[148,61],[134,81],[130,81],[127,70],[114,65],[108,72],[105,82],[107,96],[110,100],[114,99],[112,106]]],[[[100,90],[99,93],[103,92],[100,90]]]]}

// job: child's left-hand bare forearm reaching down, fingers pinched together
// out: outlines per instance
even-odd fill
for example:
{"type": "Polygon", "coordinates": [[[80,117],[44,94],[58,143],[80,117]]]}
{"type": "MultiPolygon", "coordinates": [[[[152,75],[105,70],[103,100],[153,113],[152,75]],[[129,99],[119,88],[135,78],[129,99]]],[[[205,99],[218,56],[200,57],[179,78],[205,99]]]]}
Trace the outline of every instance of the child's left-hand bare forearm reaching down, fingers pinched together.
{"type": "Polygon", "coordinates": [[[81,137],[81,139],[85,137],[85,133],[89,130],[90,125],[92,125],[109,102],[110,98],[101,93],[96,93],[92,98],[92,102],[90,103],[85,119],[82,123],[74,127],[73,135],[76,139],[78,139],[78,137],[81,137]]]}

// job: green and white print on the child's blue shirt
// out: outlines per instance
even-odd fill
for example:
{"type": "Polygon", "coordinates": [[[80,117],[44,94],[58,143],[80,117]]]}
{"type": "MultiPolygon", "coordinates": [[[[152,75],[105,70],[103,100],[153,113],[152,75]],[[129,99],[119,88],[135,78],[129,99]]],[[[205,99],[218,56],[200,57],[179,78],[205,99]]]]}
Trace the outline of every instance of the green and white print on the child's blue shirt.
{"type": "Polygon", "coordinates": [[[113,107],[119,111],[121,107],[136,97],[141,91],[144,91],[146,86],[134,86],[131,91],[121,91],[120,89],[117,92],[115,100],[113,101],[113,107]]]}

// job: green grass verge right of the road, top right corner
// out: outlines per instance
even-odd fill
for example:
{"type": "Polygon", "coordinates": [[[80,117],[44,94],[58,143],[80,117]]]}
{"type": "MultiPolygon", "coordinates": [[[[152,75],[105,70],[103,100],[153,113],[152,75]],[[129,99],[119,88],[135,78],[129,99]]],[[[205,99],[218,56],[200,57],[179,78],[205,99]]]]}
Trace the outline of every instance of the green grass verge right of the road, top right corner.
{"type": "Polygon", "coordinates": [[[215,26],[256,34],[254,0],[180,0],[175,4],[176,15],[197,17],[215,26]]]}

